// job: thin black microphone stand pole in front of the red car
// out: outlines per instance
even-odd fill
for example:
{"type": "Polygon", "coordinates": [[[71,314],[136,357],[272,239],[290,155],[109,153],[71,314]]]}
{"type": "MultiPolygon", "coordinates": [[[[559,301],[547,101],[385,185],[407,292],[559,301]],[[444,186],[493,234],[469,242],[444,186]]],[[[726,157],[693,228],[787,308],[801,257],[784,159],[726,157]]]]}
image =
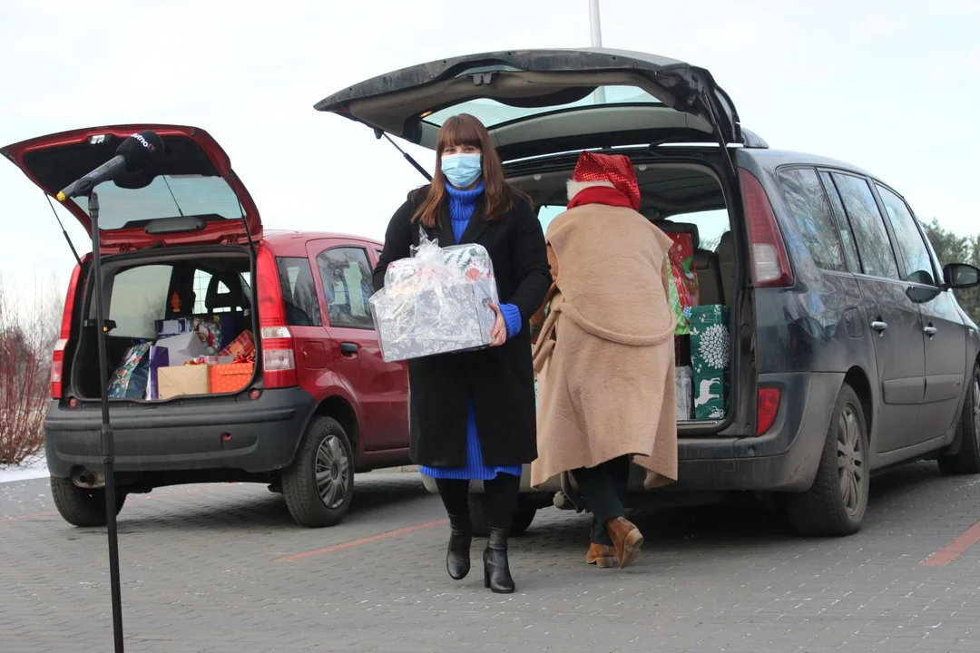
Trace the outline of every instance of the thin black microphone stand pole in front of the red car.
{"type": "Polygon", "coordinates": [[[120,584],[120,545],[116,531],[116,439],[109,421],[109,378],[106,370],[106,316],[102,304],[102,254],[99,242],[99,197],[88,196],[92,221],[92,275],[95,277],[95,341],[99,350],[99,399],[102,403],[102,465],[106,475],[106,527],[109,532],[109,583],[113,595],[113,638],[116,653],[123,653],[123,590],[120,584]]]}

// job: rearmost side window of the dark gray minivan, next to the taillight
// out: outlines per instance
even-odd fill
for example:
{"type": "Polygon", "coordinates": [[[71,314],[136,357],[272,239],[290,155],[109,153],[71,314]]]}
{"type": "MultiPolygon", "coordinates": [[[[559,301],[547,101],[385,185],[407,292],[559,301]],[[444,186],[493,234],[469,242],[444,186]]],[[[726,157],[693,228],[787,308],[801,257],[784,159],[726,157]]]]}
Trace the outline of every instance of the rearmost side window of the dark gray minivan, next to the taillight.
{"type": "Polygon", "coordinates": [[[832,272],[846,271],[834,216],[816,170],[809,167],[782,170],[779,185],[789,205],[795,231],[803,239],[816,266],[832,272]]]}

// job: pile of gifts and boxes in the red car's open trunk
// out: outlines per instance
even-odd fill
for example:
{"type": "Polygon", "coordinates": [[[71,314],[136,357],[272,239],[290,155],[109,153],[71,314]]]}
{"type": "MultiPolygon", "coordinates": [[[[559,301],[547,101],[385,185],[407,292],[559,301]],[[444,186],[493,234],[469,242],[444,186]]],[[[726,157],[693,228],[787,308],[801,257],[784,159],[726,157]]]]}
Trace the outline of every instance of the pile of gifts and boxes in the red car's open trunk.
{"type": "Polygon", "coordinates": [[[235,334],[230,314],[155,322],[157,338],[129,347],[109,382],[110,398],[169,399],[235,393],[255,371],[255,339],[235,334]]]}

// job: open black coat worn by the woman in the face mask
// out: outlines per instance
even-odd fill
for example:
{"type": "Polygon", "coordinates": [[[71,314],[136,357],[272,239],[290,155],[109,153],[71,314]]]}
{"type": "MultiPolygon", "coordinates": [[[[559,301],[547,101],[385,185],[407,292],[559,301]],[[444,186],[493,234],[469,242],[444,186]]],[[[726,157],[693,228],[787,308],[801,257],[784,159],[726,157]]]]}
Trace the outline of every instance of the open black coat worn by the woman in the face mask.
{"type": "MultiPolygon", "coordinates": [[[[395,211],[374,269],[374,289],[384,286],[388,265],[411,256],[419,242],[420,223],[412,216],[428,188],[409,195],[395,211]]],[[[480,449],[486,465],[516,465],[537,458],[534,370],[527,320],[543,303],[551,285],[544,232],[527,200],[514,196],[503,217],[484,219],[481,198],[460,243],[453,236],[449,201],[440,223],[424,230],[440,247],[476,243],[493,260],[501,303],[520,310],[520,333],[498,348],[445,353],[408,361],[411,393],[410,457],[419,465],[462,467],[466,464],[466,399],[472,398],[480,449]]]]}

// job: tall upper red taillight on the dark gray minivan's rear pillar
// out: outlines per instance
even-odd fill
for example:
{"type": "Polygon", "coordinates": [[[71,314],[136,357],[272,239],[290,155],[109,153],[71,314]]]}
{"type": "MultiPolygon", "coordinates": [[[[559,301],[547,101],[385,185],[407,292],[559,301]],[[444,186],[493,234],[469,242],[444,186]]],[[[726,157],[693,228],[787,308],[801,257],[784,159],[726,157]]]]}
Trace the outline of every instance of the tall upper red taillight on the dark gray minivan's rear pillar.
{"type": "Polygon", "coordinates": [[[787,288],[793,285],[793,270],[786,255],[776,215],[759,179],[739,168],[742,206],[749,227],[752,279],[756,288],[787,288]]]}

